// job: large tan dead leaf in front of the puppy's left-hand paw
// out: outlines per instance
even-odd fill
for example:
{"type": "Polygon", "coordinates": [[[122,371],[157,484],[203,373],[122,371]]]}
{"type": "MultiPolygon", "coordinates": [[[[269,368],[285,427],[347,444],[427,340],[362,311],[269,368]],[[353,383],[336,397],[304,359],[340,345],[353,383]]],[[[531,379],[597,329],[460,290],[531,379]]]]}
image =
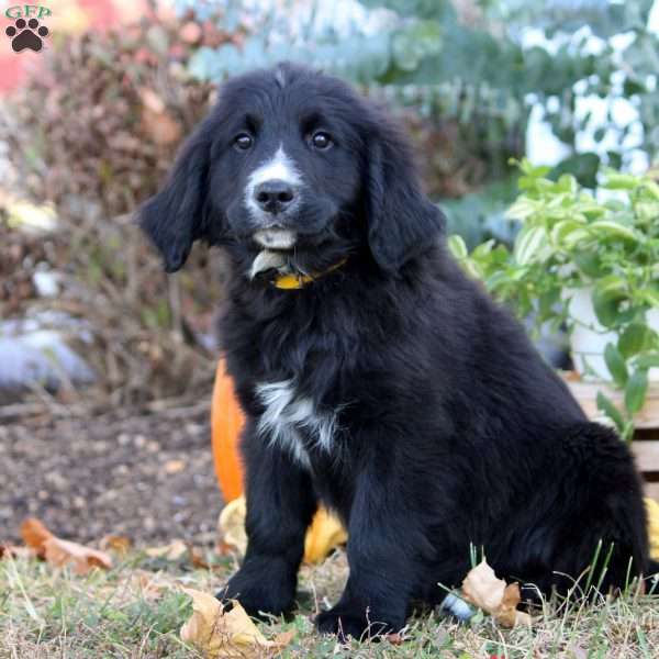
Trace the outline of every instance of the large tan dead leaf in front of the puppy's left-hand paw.
{"type": "Polygon", "coordinates": [[[192,616],[181,627],[181,640],[206,659],[256,659],[278,652],[293,639],[294,633],[287,632],[268,640],[238,602],[232,601],[231,611],[225,611],[213,595],[187,588],[183,592],[192,597],[192,616]]]}

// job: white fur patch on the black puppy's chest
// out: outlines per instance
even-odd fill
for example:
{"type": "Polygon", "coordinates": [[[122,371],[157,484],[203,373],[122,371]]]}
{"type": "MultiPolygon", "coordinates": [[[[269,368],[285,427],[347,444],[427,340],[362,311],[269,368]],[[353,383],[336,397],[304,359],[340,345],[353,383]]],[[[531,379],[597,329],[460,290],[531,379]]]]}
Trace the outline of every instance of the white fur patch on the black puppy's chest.
{"type": "Polygon", "coordinates": [[[265,406],[258,433],[270,445],[278,445],[309,469],[311,461],[302,433],[313,447],[331,453],[336,433],[336,412],[322,412],[309,398],[298,396],[292,380],[256,386],[256,395],[265,406]]]}

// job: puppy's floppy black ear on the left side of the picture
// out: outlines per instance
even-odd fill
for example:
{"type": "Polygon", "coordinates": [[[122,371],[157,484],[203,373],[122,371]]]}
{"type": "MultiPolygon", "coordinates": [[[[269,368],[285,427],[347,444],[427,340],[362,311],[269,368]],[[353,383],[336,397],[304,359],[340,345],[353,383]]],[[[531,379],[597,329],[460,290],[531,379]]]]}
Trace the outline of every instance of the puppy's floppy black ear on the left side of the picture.
{"type": "Polygon", "coordinates": [[[167,272],[181,268],[192,243],[204,236],[211,134],[206,120],[183,144],[164,188],[139,209],[139,226],[160,252],[167,272]]]}

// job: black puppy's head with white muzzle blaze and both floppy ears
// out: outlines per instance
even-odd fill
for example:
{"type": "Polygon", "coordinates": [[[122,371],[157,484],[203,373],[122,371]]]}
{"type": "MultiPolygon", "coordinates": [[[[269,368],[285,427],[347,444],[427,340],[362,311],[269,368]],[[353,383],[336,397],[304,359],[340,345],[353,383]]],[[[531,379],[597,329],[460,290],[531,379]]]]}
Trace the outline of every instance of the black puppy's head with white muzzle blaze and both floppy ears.
{"type": "Polygon", "coordinates": [[[141,210],[170,272],[196,239],[303,271],[366,248],[395,271],[442,222],[395,126],[340,80],[288,64],[228,81],[141,210]]]}

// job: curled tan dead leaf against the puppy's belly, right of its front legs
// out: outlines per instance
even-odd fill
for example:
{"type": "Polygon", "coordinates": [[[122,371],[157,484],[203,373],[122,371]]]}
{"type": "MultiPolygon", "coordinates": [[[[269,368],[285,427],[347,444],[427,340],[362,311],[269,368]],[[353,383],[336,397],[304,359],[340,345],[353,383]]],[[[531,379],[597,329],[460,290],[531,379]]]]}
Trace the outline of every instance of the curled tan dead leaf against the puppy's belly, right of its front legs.
{"type": "Polygon", "coordinates": [[[496,578],[484,559],[462,581],[462,595],[468,602],[487,611],[504,627],[530,625],[530,616],[517,611],[517,604],[522,600],[520,585],[506,585],[503,579],[496,578]]]}

